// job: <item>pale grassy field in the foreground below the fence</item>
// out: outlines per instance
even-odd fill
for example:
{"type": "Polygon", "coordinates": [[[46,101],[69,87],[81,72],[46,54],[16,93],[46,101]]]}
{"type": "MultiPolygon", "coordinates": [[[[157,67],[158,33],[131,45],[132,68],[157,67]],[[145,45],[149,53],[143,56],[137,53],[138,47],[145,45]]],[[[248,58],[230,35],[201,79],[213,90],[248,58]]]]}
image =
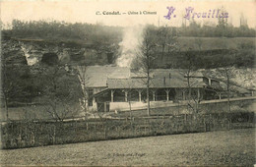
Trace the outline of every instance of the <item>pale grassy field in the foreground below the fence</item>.
{"type": "Polygon", "coordinates": [[[230,165],[255,163],[255,129],[1,150],[1,165],[230,165]]]}

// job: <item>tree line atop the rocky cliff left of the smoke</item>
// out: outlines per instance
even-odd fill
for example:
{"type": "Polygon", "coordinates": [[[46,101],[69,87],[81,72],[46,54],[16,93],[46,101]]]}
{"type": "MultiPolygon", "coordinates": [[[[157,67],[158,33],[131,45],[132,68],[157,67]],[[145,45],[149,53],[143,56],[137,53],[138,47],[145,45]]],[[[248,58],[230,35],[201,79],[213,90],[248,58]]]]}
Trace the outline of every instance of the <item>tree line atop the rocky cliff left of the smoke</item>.
{"type": "Polygon", "coordinates": [[[66,23],[58,21],[20,21],[13,20],[3,31],[12,37],[43,39],[79,39],[84,41],[112,42],[121,37],[121,28],[112,28],[100,24],[66,23]]]}

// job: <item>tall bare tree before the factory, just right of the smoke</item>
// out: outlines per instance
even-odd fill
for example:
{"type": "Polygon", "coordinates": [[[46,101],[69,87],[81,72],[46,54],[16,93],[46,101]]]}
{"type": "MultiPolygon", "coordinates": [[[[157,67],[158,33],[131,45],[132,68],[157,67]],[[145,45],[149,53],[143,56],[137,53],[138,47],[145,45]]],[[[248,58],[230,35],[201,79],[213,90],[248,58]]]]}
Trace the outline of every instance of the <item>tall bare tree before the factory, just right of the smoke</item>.
{"type": "Polygon", "coordinates": [[[150,81],[151,71],[154,68],[154,60],[156,59],[156,29],[155,27],[148,26],[143,32],[143,41],[140,44],[140,50],[137,51],[137,58],[134,59],[133,64],[141,70],[146,76],[143,80],[147,85],[147,112],[150,116],[150,81]]]}

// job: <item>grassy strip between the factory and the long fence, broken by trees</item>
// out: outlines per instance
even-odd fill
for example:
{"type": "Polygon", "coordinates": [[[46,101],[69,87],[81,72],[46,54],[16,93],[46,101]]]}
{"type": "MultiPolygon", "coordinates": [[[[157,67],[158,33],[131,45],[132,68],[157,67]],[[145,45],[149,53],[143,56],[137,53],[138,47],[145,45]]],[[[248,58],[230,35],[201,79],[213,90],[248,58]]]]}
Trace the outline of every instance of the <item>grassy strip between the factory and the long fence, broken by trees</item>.
{"type": "MultiPolygon", "coordinates": [[[[244,100],[244,101],[232,101],[231,102],[231,111],[232,112],[254,112],[256,106],[256,101],[252,100],[244,100]]],[[[9,119],[11,120],[40,120],[40,119],[52,119],[51,115],[46,112],[46,106],[43,105],[31,105],[31,106],[23,106],[23,107],[9,107],[9,119]]],[[[67,115],[68,118],[73,117],[81,117],[83,113],[80,112],[79,104],[74,104],[74,106],[70,106],[71,112],[67,115]]],[[[153,116],[164,116],[164,115],[173,115],[173,114],[182,114],[186,113],[185,109],[186,106],[179,106],[179,107],[165,107],[165,108],[156,108],[151,109],[151,114],[153,116]]],[[[0,114],[0,121],[6,120],[6,111],[5,108],[0,108],[2,111],[0,114]]],[[[216,112],[226,112],[228,111],[226,103],[213,103],[213,104],[202,104],[200,105],[201,112],[207,113],[216,113],[216,112]]],[[[103,113],[102,113],[103,114],[103,113]]],[[[114,117],[130,117],[130,111],[122,111],[118,114],[114,112],[107,113],[108,115],[114,117]]],[[[148,116],[147,110],[135,110],[132,112],[133,117],[142,117],[148,116]]]]}

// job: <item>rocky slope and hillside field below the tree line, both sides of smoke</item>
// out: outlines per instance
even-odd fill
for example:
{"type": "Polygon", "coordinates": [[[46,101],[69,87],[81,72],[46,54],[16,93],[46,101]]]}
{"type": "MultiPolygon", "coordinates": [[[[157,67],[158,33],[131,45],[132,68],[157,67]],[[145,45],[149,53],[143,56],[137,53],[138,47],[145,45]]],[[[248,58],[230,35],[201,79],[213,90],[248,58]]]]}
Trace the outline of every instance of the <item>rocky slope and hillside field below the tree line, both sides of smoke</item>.
{"type": "MultiPolygon", "coordinates": [[[[103,41],[102,41],[103,42],[103,41]]],[[[197,68],[215,68],[224,66],[253,67],[254,66],[254,37],[218,38],[218,37],[179,37],[179,51],[157,54],[159,68],[186,68],[185,54],[192,48],[196,57],[197,68]],[[200,40],[201,45],[196,41],[200,40]],[[244,47],[244,48],[243,48],[244,47]]],[[[120,56],[119,40],[113,43],[84,43],[82,40],[50,41],[45,39],[10,38],[2,42],[4,54],[16,57],[16,51],[25,55],[29,65],[41,61],[43,54],[55,53],[62,64],[106,65],[115,63],[120,56]]],[[[191,52],[191,50],[190,50],[191,52]]],[[[20,57],[22,59],[22,57],[20,57]]]]}

